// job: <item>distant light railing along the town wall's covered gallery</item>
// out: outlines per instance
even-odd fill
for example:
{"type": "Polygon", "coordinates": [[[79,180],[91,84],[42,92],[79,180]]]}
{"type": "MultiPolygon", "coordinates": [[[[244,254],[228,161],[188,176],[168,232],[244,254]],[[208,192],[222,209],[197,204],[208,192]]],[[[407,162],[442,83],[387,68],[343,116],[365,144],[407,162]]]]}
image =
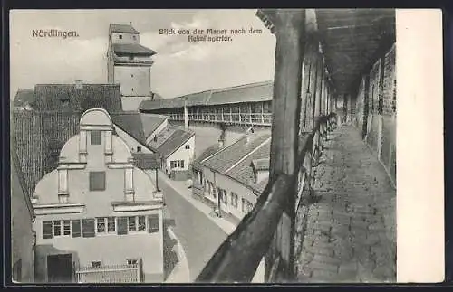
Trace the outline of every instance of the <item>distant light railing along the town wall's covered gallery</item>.
{"type": "MultiPolygon", "coordinates": [[[[184,114],[166,114],[169,120],[184,120],[184,114]]],[[[190,113],[188,120],[245,125],[271,126],[272,113],[190,113]]]]}

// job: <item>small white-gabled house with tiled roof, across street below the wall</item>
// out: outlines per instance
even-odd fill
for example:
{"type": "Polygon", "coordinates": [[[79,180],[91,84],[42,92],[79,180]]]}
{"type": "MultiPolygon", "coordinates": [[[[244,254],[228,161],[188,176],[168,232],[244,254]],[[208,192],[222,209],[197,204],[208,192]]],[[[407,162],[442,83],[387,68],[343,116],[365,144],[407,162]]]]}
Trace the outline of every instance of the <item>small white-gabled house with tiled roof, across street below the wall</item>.
{"type": "Polygon", "coordinates": [[[168,125],[155,135],[148,146],[159,153],[160,168],[175,180],[185,180],[190,175],[189,165],[195,155],[195,133],[186,128],[168,125]]]}

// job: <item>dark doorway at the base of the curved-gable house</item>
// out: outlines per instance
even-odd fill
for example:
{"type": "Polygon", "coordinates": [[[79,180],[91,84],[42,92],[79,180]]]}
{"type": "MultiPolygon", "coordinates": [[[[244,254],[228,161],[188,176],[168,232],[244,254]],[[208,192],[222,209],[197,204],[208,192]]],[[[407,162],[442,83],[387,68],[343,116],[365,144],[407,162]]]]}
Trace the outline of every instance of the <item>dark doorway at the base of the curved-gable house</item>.
{"type": "Polygon", "coordinates": [[[47,256],[47,278],[51,283],[72,282],[72,255],[68,253],[47,256]]]}

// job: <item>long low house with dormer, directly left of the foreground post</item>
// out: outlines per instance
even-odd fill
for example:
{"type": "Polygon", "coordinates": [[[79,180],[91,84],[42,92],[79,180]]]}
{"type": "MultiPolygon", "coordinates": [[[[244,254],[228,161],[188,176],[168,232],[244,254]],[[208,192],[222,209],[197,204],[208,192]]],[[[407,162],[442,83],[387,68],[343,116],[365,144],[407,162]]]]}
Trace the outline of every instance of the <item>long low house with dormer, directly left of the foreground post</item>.
{"type": "Polygon", "coordinates": [[[234,144],[211,146],[194,162],[192,192],[235,222],[253,209],[269,176],[270,134],[247,130],[234,144]]]}

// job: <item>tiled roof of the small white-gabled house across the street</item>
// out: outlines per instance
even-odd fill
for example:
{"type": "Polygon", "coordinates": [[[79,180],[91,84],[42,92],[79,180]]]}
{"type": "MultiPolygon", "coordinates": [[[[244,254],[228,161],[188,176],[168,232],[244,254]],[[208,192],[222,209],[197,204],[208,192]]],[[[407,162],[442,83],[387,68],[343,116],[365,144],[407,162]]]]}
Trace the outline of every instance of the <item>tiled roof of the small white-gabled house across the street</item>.
{"type": "Polygon", "coordinates": [[[173,126],[164,128],[160,133],[163,137],[159,137],[158,134],[157,142],[151,141],[148,145],[164,158],[173,154],[190,137],[195,135],[192,131],[173,126]]]}

